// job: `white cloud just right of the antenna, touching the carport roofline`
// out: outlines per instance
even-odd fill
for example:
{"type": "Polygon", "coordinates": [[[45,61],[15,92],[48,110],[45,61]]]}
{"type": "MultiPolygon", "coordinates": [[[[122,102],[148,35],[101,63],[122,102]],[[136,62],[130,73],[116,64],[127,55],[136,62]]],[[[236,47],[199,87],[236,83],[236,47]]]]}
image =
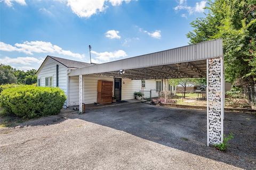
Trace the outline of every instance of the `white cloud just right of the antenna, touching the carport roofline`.
{"type": "Polygon", "coordinates": [[[96,56],[96,60],[95,59],[92,60],[92,62],[94,63],[109,62],[109,61],[113,61],[118,58],[127,56],[124,50],[117,50],[114,52],[102,52],[102,53],[91,51],[91,53],[96,56]]]}

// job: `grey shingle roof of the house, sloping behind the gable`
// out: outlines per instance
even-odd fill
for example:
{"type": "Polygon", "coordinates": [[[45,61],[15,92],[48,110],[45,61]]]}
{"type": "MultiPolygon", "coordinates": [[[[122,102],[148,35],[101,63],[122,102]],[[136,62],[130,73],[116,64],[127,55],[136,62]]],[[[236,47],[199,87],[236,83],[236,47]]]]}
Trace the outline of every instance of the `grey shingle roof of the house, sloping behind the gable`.
{"type": "Polygon", "coordinates": [[[85,62],[78,62],[78,61],[74,61],[74,60],[68,60],[65,58],[60,58],[60,57],[54,57],[54,56],[48,56],[50,58],[52,58],[55,61],[60,62],[61,64],[65,65],[66,67],[69,68],[82,68],[82,67],[86,67],[86,66],[90,66],[90,65],[95,65],[95,64],[90,64],[90,63],[85,63],[85,62]]]}

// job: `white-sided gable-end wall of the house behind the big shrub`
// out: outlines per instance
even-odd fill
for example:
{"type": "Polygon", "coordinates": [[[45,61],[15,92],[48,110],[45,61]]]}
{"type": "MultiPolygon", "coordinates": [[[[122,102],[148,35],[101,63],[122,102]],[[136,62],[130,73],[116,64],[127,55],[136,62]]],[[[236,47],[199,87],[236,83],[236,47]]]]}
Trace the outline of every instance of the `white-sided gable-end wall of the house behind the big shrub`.
{"type": "MultiPolygon", "coordinates": [[[[38,79],[40,79],[40,86],[45,87],[45,78],[52,77],[53,87],[56,87],[56,65],[59,64],[59,88],[62,89],[67,95],[67,71],[68,68],[63,66],[62,64],[48,58],[41,71],[37,75],[37,83],[38,79]]],[[[66,104],[66,102],[65,102],[66,104]]]]}

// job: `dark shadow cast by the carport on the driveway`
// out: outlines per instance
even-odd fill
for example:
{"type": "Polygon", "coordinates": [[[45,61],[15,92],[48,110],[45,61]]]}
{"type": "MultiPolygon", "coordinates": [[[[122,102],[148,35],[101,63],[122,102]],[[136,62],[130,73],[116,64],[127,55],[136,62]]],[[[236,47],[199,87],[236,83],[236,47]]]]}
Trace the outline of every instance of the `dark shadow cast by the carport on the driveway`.
{"type": "MultiPolygon", "coordinates": [[[[224,133],[234,133],[227,152],[207,147],[206,111],[126,103],[73,115],[84,121],[245,169],[256,168],[256,117],[225,113],[224,133]]],[[[71,118],[69,117],[69,118],[71,118]]]]}

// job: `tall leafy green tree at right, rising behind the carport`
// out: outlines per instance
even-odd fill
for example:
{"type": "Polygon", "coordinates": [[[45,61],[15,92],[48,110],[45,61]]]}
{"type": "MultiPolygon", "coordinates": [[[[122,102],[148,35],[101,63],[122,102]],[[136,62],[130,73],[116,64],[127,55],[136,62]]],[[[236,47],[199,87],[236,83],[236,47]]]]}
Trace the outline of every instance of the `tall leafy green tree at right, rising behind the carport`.
{"type": "Polygon", "coordinates": [[[207,3],[205,18],[191,22],[190,43],[223,39],[225,77],[241,86],[256,83],[256,1],[216,0],[207,3]],[[239,80],[239,81],[238,81],[239,80]]]}

